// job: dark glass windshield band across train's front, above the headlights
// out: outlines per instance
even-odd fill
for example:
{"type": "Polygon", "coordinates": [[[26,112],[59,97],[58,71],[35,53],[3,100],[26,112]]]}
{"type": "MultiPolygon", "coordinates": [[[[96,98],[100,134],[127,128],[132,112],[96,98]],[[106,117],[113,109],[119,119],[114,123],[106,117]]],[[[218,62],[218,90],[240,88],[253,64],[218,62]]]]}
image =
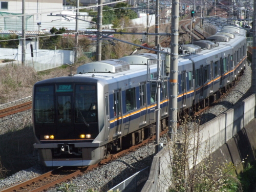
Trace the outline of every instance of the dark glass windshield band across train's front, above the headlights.
{"type": "Polygon", "coordinates": [[[34,122],[97,123],[97,84],[53,83],[35,86],[34,122]]]}

